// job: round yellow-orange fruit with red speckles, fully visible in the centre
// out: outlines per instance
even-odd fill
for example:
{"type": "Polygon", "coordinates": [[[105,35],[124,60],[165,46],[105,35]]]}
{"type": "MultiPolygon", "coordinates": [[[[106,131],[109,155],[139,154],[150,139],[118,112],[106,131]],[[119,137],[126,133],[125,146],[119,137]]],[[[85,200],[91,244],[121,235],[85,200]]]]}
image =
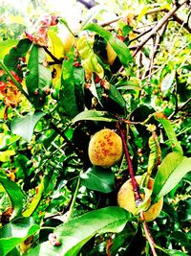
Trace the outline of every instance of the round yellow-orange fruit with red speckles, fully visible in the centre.
{"type": "Polygon", "coordinates": [[[88,153],[94,165],[109,168],[122,156],[122,140],[115,131],[103,128],[91,138],[88,153]]]}

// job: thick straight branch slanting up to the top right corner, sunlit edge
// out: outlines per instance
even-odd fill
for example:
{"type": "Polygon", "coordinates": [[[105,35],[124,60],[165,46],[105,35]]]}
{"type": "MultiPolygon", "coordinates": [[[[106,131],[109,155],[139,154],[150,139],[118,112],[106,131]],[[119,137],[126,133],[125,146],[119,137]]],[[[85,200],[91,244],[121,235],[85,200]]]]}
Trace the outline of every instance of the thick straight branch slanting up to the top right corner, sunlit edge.
{"type": "Polygon", "coordinates": [[[133,53],[133,57],[136,57],[138,52],[142,49],[142,47],[145,45],[145,43],[153,36],[155,35],[159,29],[168,21],[170,17],[173,16],[175,12],[177,12],[180,7],[187,3],[187,0],[184,0],[179,6],[174,6],[173,9],[170,12],[167,12],[166,15],[163,16],[163,18],[160,19],[159,23],[152,29],[152,31],[142,40],[142,42],[138,45],[138,48],[133,53]]]}

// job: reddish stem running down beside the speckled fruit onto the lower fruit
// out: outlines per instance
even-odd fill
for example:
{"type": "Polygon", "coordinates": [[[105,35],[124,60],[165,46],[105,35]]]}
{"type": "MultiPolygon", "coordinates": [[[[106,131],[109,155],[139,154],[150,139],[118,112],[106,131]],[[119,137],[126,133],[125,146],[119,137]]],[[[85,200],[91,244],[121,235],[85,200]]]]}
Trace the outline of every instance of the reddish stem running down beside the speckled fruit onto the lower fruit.
{"type": "Polygon", "coordinates": [[[125,156],[126,156],[126,159],[127,159],[128,167],[129,167],[129,175],[130,175],[131,180],[132,180],[132,186],[133,186],[133,190],[134,190],[134,197],[135,197],[135,201],[136,201],[136,206],[138,207],[142,203],[142,198],[139,195],[139,186],[138,186],[138,182],[135,178],[132,160],[131,160],[129,150],[128,150],[128,147],[127,147],[127,143],[126,143],[125,132],[123,131],[122,128],[119,127],[118,123],[117,123],[117,128],[119,129],[119,132],[120,132],[120,137],[121,137],[121,140],[122,140],[124,153],[125,153],[125,156]]]}

